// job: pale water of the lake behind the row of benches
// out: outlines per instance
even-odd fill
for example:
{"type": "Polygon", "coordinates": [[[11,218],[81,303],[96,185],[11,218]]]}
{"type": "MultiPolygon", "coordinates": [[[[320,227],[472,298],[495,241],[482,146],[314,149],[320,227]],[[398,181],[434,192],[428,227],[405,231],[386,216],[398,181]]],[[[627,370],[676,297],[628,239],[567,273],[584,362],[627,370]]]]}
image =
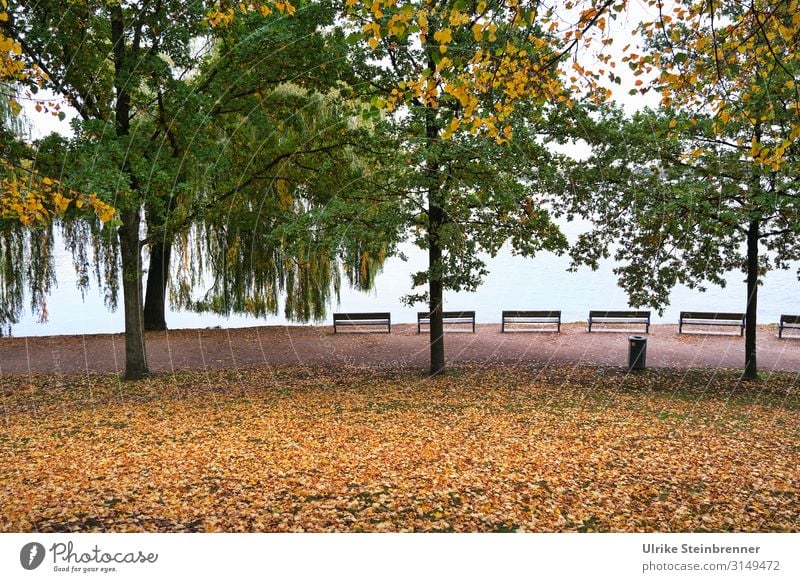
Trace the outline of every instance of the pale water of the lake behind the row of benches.
{"type": "MultiPolygon", "coordinates": [[[[567,235],[574,238],[577,226],[567,225],[567,235]]],[[[416,323],[416,312],[404,306],[400,299],[411,292],[411,273],[424,269],[427,253],[412,245],[401,250],[408,261],[389,258],[383,272],[376,278],[373,291],[362,293],[342,289],[341,301],[332,305],[333,311],[389,311],[393,323],[416,323]]],[[[109,312],[96,289],[91,289],[86,299],[76,287],[72,263],[66,252],[57,255],[58,288],[48,300],[49,320],[39,323],[26,314],[12,326],[13,336],[117,333],[123,331],[121,308],[109,312]]],[[[590,309],[625,309],[628,306],[625,292],[616,285],[612,272],[614,263],[605,261],[597,271],[581,268],[576,273],[567,272],[569,258],[552,253],[541,253],[535,258],[512,255],[503,249],[497,257],[489,259],[489,275],[475,293],[445,293],[445,308],[450,310],[475,310],[479,323],[499,323],[504,309],[560,309],[562,320],[586,321],[590,309]]],[[[781,313],[800,312],[800,282],[797,267],[788,271],[769,273],[759,289],[758,321],[775,323],[781,313]]],[[[744,311],[746,289],[744,275],[730,273],[725,288],[709,286],[701,293],[677,287],[671,295],[671,305],[662,316],[653,313],[655,323],[677,323],[681,310],[744,311]]],[[[324,322],[330,323],[330,315],[324,322]]],[[[171,329],[203,327],[248,327],[255,325],[290,324],[282,315],[264,318],[232,316],[229,318],[210,314],[170,311],[167,325],[171,329]]]]}

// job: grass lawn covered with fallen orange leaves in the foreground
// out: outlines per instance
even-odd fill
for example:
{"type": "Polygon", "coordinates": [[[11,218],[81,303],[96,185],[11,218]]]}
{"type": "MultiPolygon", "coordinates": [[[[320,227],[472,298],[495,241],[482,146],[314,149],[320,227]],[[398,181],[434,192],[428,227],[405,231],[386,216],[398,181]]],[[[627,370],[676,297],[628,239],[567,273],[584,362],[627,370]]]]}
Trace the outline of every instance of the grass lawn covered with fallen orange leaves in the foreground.
{"type": "Polygon", "coordinates": [[[797,376],[0,376],[2,531],[798,531],[797,376]]]}

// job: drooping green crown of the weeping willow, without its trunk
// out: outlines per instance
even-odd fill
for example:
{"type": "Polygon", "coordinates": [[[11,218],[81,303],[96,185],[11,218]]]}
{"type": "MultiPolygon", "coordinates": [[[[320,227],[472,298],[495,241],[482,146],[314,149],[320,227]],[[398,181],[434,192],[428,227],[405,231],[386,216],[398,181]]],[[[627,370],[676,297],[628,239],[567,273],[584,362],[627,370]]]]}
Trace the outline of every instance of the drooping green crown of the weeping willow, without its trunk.
{"type": "MultiPolygon", "coordinates": [[[[362,219],[383,212],[365,198],[377,188],[368,175],[392,152],[354,98],[331,6],[296,8],[291,18],[254,10],[217,23],[213,54],[189,96],[206,104],[206,121],[197,127],[194,107],[167,113],[169,127],[192,128],[190,140],[173,129],[178,138],[170,147],[191,151],[187,178],[203,192],[166,229],[151,229],[167,248],[178,233],[176,305],[260,316],[275,313],[283,294],[288,319],[319,319],[338,291],[340,261],[350,283],[365,288],[389,250],[386,229],[340,226],[354,211],[362,219]],[[180,231],[175,224],[191,226],[180,231]],[[203,274],[212,284],[197,299],[192,290],[203,274]]],[[[158,288],[151,285],[153,258],[147,304],[158,288]]]]}

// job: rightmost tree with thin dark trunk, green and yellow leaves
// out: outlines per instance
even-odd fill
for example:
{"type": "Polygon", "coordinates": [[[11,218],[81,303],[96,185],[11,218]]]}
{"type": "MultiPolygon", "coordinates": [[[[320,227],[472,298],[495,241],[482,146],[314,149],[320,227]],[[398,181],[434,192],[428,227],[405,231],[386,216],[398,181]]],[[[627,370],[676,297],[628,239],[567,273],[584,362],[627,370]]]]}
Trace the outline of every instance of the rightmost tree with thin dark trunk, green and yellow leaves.
{"type": "Polygon", "coordinates": [[[755,379],[760,277],[800,258],[797,2],[676,2],[671,14],[656,4],[648,51],[627,59],[655,75],[663,110],[601,123],[605,143],[573,183],[602,226],[574,255],[596,264],[598,249],[624,240],[618,272],[640,305],[741,269],[743,378],[755,379]]]}

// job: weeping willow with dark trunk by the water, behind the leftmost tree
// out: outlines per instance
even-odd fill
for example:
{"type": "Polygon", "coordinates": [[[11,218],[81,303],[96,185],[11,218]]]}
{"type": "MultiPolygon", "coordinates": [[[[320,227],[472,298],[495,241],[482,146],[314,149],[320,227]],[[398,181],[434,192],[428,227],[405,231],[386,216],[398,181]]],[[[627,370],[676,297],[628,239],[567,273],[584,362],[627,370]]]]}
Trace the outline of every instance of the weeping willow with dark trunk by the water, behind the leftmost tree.
{"type": "MultiPolygon", "coordinates": [[[[368,149],[374,143],[368,126],[374,129],[374,124],[359,121],[362,108],[353,99],[347,47],[334,26],[334,10],[328,2],[299,2],[291,10],[281,6],[291,17],[269,13],[263,3],[249,3],[245,13],[240,6],[238,12],[215,12],[213,44],[193,72],[188,92],[159,106],[153,133],[163,136],[165,147],[157,155],[177,160],[181,179],[200,195],[192,204],[176,205],[181,196],[173,192],[147,205],[148,329],[166,327],[164,297],[173,245],[182,248],[183,259],[172,286],[177,305],[263,315],[276,307],[264,297],[283,293],[286,305],[294,306],[287,316],[302,321],[324,315],[338,273],[336,259],[360,260],[342,254],[344,239],[327,236],[329,229],[316,238],[312,235],[318,229],[296,230],[309,240],[292,250],[279,236],[256,237],[249,226],[241,228],[253,214],[258,232],[268,225],[305,221],[312,209],[318,216],[331,193],[356,196],[362,184],[353,179],[353,164],[359,156],[368,155],[371,167],[381,164],[368,149]],[[175,216],[165,220],[169,214],[175,216]],[[236,254],[233,247],[250,249],[246,261],[228,260],[228,254],[236,254]],[[295,251],[299,260],[286,255],[295,251]],[[322,268],[325,261],[330,264],[322,268]],[[311,269],[316,263],[319,268],[311,269]],[[205,298],[193,301],[191,281],[198,281],[204,268],[213,285],[205,298]],[[319,277],[311,277],[312,271],[319,277]],[[301,307],[307,301],[313,309],[301,307]]],[[[359,281],[369,277],[352,280],[359,281]]]]}

